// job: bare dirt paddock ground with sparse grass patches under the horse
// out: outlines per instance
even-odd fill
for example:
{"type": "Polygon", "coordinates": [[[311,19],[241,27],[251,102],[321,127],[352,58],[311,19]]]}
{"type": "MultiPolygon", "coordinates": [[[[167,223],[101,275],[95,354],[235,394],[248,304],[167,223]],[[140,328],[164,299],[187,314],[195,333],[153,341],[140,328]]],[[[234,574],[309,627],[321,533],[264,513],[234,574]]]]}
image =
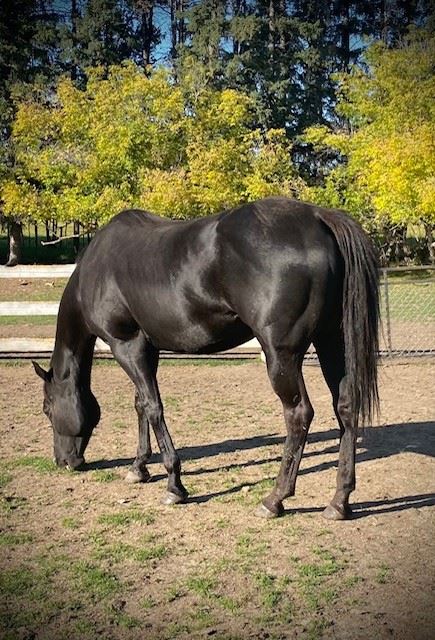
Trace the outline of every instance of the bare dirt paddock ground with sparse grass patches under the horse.
{"type": "Polygon", "coordinates": [[[281,408],[257,362],[164,363],[167,422],[191,493],[123,477],[136,448],[133,389],[94,368],[102,420],[83,473],[55,469],[30,363],[0,365],[0,637],[68,639],[435,637],[435,360],[381,368],[382,414],[360,439],[354,517],[322,519],[336,424],[317,366],[316,417],[295,498],[254,516],[278,470],[281,408]]]}

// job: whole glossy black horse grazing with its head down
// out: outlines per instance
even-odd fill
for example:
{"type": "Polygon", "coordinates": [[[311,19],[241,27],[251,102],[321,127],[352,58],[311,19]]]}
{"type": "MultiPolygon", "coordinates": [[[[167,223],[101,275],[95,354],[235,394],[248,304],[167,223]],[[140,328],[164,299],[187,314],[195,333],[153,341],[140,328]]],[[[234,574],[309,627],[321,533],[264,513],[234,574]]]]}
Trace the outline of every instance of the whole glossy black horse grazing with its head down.
{"type": "Polygon", "coordinates": [[[139,446],[127,480],[149,479],[149,425],[169,476],[167,504],[187,492],[165,423],[156,373],[161,349],[207,354],[255,336],[284,410],[287,437],[273,517],[294,494],[313,418],[302,361],[314,344],[340,424],[337,490],[324,515],[343,519],[355,487],[358,419],[378,407],[378,268],[357,222],[340,211],[267,198],[188,221],[123,211],[101,229],[63,294],[45,381],[44,412],[58,465],[75,469],[100,418],[91,391],[96,337],[136,386],[139,446]]]}

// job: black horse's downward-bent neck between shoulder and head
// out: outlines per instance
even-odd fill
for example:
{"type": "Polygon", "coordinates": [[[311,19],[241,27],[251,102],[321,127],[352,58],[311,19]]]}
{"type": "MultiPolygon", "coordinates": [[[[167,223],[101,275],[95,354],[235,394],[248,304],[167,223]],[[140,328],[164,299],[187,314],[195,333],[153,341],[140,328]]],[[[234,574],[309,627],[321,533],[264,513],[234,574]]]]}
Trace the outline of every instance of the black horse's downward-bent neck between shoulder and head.
{"type": "Polygon", "coordinates": [[[95,336],[86,327],[77,286],[78,278],[73,274],[59,307],[51,366],[57,381],[89,387],[95,336]]]}

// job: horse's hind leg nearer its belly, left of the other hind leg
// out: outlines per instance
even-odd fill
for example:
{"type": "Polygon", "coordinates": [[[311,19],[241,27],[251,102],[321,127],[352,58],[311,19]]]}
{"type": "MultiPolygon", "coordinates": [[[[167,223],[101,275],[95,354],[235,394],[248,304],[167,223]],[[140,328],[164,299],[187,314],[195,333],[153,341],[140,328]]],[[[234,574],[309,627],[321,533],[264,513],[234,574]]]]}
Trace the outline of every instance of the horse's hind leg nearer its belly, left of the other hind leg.
{"type": "Polygon", "coordinates": [[[269,378],[282,402],[287,428],[275,486],[257,511],[258,515],[266,518],[280,515],[284,510],[282,501],[294,495],[299,464],[314,416],[302,377],[302,358],[300,353],[290,350],[266,349],[269,378]]]}

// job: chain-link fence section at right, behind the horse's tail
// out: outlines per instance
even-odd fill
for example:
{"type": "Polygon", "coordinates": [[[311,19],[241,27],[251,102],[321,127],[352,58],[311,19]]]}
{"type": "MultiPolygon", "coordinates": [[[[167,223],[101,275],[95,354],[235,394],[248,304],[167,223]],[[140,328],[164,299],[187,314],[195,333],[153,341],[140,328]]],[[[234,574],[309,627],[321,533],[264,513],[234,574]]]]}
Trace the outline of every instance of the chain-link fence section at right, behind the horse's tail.
{"type": "Polygon", "coordinates": [[[382,356],[435,355],[435,267],[383,269],[382,356]]]}

